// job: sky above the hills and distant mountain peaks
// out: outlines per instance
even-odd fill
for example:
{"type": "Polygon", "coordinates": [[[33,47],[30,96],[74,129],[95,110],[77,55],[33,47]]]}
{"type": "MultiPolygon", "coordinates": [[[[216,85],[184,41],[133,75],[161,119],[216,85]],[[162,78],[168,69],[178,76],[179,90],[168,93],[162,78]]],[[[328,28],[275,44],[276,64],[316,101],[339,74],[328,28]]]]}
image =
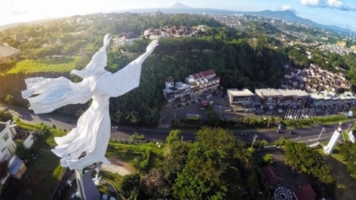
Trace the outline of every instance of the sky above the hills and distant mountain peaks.
{"type": "MultiPolygon", "coordinates": [[[[1,0],[0,25],[86,15],[100,10],[165,8],[174,0],[1,0]]],[[[194,8],[241,11],[292,10],[299,17],[356,31],[356,0],[179,0],[194,8]]]]}

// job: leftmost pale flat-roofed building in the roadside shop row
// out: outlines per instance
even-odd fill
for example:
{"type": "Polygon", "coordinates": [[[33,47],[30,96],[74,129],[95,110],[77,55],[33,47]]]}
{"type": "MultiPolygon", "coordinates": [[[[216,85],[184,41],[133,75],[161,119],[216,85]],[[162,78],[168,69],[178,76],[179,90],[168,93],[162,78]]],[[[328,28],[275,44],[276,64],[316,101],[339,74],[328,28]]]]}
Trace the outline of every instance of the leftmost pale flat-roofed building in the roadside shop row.
{"type": "Polygon", "coordinates": [[[230,104],[249,105],[254,102],[254,93],[249,89],[227,89],[227,97],[230,104]]]}

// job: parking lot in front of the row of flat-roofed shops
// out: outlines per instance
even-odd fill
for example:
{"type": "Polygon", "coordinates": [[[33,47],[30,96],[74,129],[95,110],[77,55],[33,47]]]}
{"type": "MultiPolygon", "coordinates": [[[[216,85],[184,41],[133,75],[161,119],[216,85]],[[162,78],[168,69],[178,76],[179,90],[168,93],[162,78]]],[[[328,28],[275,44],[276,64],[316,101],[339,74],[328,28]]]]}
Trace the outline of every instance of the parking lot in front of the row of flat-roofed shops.
{"type": "Polygon", "coordinates": [[[171,104],[166,104],[160,114],[160,127],[170,127],[172,120],[185,119],[187,113],[194,113],[201,116],[202,120],[207,119],[207,110],[202,109],[201,102],[207,100],[212,104],[212,108],[221,120],[238,120],[241,117],[256,118],[261,117],[268,118],[270,116],[292,117],[292,116],[331,116],[335,114],[341,114],[350,111],[351,105],[342,106],[325,106],[325,107],[308,107],[308,108],[297,108],[293,109],[290,107],[281,107],[281,109],[274,108],[272,111],[261,107],[256,107],[256,109],[250,109],[246,111],[238,111],[238,107],[230,106],[227,96],[223,96],[221,91],[214,91],[207,94],[202,94],[200,96],[185,97],[182,100],[176,100],[171,104]]]}

